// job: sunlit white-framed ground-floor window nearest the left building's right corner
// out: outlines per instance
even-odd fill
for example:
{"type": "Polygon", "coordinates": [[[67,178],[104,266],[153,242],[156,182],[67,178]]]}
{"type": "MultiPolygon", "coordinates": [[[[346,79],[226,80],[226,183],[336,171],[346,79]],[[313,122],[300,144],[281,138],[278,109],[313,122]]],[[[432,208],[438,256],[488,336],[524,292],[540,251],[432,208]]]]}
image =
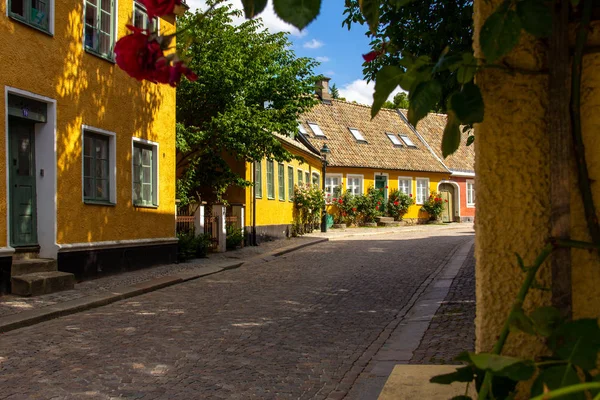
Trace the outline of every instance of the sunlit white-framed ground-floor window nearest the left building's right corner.
{"type": "Polygon", "coordinates": [[[133,204],[158,205],[158,145],[133,139],[133,204]]]}

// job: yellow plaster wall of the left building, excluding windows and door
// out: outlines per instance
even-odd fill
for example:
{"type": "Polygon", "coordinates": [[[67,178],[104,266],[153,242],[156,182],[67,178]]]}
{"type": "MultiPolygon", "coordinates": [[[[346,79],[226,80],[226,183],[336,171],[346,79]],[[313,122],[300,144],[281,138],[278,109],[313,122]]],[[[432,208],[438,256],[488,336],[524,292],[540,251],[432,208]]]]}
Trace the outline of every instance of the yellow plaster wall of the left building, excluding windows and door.
{"type": "MultiPolygon", "coordinates": [[[[54,36],[6,16],[0,3],[0,86],[33,92],[57,101],[57,241],[77,243],[174,236],[175,90],[140,83],[115,64],[83,49],[83,1],[55,1],[54,36]],[[82,124],[116,133],[117,204],[82,201],[82,124]],[[159,143],[159,207],[132,206],[132,136],[159,143]]],[[[118,1],[117,37],[126,34],[133,0],[118,1]]],[[[162,32],[174,20],[161,20],[162,32]]],[[[2,91],[4,93],[4,91],[2,91]]],[[[4,96],[4,95],[3,95],[4,96]]],[[[4,103],[3,103],[4,104],[4,103]]],[[[0,123],[6,126],[5,106],[0,123]]],[[[0,148],[5,148],[0,135],[0,148]]],[[[0,151],[0,173],[5,174],[0,151]]],[[[0,179],[6,199],[6,182],[0,179]]],[[[38,199],[44,201],[44,199],[38,199]]],[[[6,204],[0,202],[0,226],[6,226],[6,204]]],[[[0,243],[6,243],[0,229],[0,243]]]]}

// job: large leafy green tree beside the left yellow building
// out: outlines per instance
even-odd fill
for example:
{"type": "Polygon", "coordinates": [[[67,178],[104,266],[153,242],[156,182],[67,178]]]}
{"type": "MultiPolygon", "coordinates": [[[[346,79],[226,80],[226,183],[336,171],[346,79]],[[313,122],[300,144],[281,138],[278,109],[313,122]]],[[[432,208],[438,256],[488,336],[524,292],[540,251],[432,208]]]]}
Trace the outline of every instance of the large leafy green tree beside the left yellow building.
{"type": "Polygon", "coordinates": [[[185,32],[178,53],[198,75],[177,88],[177,195],[183,203],[195,193],[210,201],[231,185],[249,185],[231,160],[291,160],[272,133],[295,132],[297,116],[315,104],[308,94],[317,63],[297,58],[287,34],[269,33],[260,20],[234,26],[238,15],[228,5],[178,21],[185,32]]]}

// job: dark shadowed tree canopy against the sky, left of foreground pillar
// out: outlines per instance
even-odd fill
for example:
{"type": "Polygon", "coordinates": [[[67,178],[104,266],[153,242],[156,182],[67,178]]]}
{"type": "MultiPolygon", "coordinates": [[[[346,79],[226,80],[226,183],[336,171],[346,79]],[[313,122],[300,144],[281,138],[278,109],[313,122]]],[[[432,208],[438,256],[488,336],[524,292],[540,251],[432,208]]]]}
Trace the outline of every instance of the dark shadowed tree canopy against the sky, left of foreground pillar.
{"type": "MultiPolygon", "coordinates": [[[[473,2],[470,0],[423,0],[408,2],[402,7],[394,1],[382,1],[379,10],[380,24],[376,32],[369,30],[366,34],[372,38],[373,51],[380,51],[382,47],[387,51],[363,64],[367,81],[375,80],[377,72],[386,65],[403,67],[401,59],[408,55],[437,59],[446,48],[454,53],[472,49],[473,2]]],[[[352,24],[366,24],[358,0],[347,1],[344,14],[347,16],[342,26],[348,29],[352,24]]],[[[450,73],[445,72],[441,79],[442,97],[434,111],[445,110],[449,94],[459,88],[456,80],[448,79],[449,76],[450,73]]]]}

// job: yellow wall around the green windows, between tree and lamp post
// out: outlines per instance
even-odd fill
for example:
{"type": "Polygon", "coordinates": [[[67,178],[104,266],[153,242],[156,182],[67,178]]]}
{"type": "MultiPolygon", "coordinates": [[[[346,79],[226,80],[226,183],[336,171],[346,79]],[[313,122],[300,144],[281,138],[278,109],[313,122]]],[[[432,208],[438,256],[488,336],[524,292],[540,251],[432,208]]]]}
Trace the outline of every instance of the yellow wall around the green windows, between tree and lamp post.
{"type": "MultiPolygon", "coordinates": [[[[256,199],[256,226],[264,226],[264,225],[288,225],[292,223],[292,213],[293,213],[293,201],[288,196],[288,166],[294,167],[294,185],[298,184],[298,170],[303,171],[303,175],[306,172],[312,177],[312,173],[316,172],[319,174],[319,185],[321,185],[321,161],[316,157],[309,156],[304,153],[300,153],[297,150],[290,146],[284,145],[284,147],[291,151],[296,155],[300,155],[304,157],[305,162],[300,162],[297,160],[292,160],[290,162],[283,163],[284,164],[284,181],[285,181],[285,190],[284,190],[284,198],[285,200],[279,200],[279,184],[278,184],[278,163],[276,161],[274,164],[274,182],[275,182],[275,196],[274,198],[268,198],[267,193],[267,161],[262,160],[262,197],[256,199]]],[[[248,181],[252,181],[252,171],[254,166],[252,164],[247,164],[246,167],[246,179],[248,181]]],[[[311,178],[312,179],[312,178],[311,178]]],[[[306,183],[306,182],[304,182],[306,183]]],[[[249,187],[246,190],[246,226],[252,225],[252,196],[253,190],[252,187],[249,187]]]]}

